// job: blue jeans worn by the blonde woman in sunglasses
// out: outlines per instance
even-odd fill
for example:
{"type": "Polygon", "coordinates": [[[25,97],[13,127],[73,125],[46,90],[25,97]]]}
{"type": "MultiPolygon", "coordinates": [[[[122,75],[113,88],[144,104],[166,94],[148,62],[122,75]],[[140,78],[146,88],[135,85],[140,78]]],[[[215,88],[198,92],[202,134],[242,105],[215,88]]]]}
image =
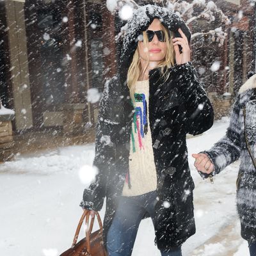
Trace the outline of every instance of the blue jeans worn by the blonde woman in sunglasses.
{"type": "MultiPolygon", "coordinates": [[[[129,256],[132,253],[140,221],[148,212],[154,220],[156,191],[139,196],[120,196],[115,217],[108,231],[109,256],[129,256]]],[[[182,256],[181,248],[161,252],[162,256],[182,256]]]]}

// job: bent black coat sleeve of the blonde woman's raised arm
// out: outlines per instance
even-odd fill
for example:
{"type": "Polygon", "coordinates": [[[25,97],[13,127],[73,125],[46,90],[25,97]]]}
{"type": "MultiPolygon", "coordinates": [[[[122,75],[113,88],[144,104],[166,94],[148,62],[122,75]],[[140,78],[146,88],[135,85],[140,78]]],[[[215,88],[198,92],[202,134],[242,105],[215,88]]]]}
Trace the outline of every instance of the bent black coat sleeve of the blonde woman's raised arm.
{"type": "Polygon", "coordinates": [[[185,105],[184,123],[189,134],[201,134],[212,127],[214,113],[191,62],[175,66],[176,82],[185,105]]]}

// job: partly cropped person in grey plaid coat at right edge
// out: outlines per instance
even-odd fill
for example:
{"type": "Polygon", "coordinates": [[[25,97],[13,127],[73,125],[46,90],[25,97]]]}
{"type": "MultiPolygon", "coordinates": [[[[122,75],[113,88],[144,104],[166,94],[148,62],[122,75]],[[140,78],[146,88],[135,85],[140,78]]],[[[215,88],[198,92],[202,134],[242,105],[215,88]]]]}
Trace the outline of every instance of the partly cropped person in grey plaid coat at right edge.
{"type": "Polygon", "coordinates": [[[241,86],[234,103],[226,135],[214,147],[195,157],[202,177],[220,173],[241,159],[237,177],[237,212],[241,236],[248,241],[250,255],[256,256],[256,75],[241,86]]]}

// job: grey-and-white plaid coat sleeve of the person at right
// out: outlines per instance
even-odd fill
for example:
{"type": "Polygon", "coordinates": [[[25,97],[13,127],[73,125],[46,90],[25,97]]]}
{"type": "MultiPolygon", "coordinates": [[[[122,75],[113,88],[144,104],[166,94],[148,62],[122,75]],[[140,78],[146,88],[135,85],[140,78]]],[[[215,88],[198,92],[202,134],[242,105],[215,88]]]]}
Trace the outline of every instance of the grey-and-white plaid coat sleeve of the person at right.
{"type": "MultiPolygon", "coordinates": [[[[238,95],[232,109],[230,124],[225,136],[215,143],[210,150],[201,152],[207,154],[214,164],[214,172],[212,175],[220,173],[226,166],[239,159],[241,154],[241,140],[243,140],[242,127],[243,109],[240,104],[240,95],[238,95]]],[[[209,176],[204,175],[204,173],[200,174],[203,177],[209,176]]]]}

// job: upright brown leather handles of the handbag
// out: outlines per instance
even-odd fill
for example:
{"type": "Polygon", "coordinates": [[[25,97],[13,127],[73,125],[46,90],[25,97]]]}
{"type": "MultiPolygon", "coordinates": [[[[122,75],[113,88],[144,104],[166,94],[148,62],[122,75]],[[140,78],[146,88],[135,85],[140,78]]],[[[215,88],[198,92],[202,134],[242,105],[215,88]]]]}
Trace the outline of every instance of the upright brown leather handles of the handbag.
{"type": "MultiPolygon", "coordinates": [[[[100,226],[100,232],[102,233],[103,231],[103,226],[102,226],[102,221],[100,220],[100,214],[99,212],[95,212],[96,216],[97,216],[97,220],[99,222],[99,226],[100,226]]],[[[76,228],[76,234],[74,236],[74,239],[73,239],[73,243],[72,243],[72,246],[71,247],[74,247],[76,245],[76,242],[77,242],[77,239],[78,239],[78,236],[79,236],[79,232],[81,230],[81,227],[82,227],[82,224],[84,222],[84,219],[86,218],[86,225],[87,227],[89,227],[89,217],[90,217],[90,211],[84,209],[84,212],[79,220],[79,223],[77,225],[77,228],[76,228]]],[[[94,219],[95,219],[95,216],[92,217],[92,220],[91,220],[91,223],[90,223],[90,227],[86,229],[86,244],[87,244],[87,250],[88,252],[90,252],[90,234],[92,233],[92,228],[93,228],[93,223],[94,223],[94,219]]]]}

